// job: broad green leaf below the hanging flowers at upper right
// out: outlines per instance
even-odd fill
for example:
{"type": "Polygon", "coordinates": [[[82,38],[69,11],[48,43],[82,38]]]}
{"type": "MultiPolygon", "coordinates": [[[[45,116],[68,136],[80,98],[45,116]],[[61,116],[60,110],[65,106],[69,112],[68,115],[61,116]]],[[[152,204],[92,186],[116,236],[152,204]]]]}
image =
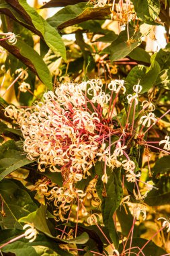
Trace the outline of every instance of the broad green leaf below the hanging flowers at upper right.
{"type": "MultiPolygon", "coordinates": [[[[132,34],[133,34],[133,31],[130,30],[130,38],[132,34]]],[[[112,42],[112,44],[110,45],[110,60],[112,62],[118,61],[119,59],[122,59],[127,55],[129,55],[129,53],[131,53],[134,48],[136,48],[141,44],[140,36],[141,36],[140,33],[136,33],[134,36],[132,36],[132,40],[134,40],[134,42],[131,42],[130,44],[128,44],[127,31],[124,30],[120,32],[118,38],[114,40],[114,42],[112,42]]]]}

